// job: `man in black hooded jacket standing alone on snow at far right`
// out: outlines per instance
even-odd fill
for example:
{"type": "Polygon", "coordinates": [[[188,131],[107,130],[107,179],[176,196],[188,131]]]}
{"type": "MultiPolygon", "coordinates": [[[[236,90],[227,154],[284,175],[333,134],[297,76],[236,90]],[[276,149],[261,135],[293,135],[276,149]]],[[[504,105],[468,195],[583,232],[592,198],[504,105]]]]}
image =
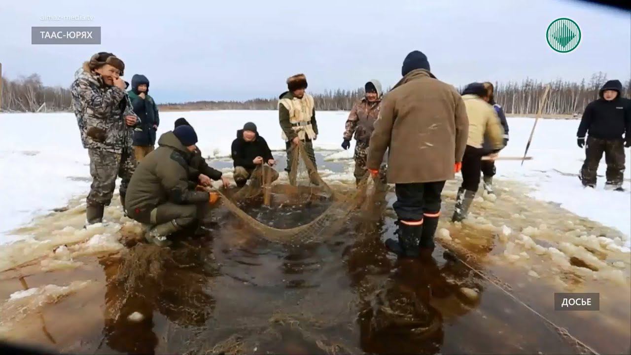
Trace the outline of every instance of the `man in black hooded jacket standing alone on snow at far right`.
{"type": "Polygon", "coordinates": [[[607,163],[605,188],[622,190],[625,171],[623,146],[631,147],[631,107],[628,99],[620,97],[621,91],[619,80],[607,81],[600,89],[600,98],[590,102],[583,112],[577,132],[579,147],[585,146],[585,162],[580,176],[583,186],[596,187],[596,171],[604,152],[607,163]]]}

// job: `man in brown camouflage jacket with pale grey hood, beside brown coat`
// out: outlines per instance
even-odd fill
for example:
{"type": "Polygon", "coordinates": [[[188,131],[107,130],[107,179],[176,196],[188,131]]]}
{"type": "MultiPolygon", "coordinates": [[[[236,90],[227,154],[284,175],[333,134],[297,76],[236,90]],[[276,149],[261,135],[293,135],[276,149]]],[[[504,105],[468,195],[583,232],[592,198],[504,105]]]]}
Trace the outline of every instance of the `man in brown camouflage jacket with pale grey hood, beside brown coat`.
{"type": "MultiPolygon", "coordinates": [[[[345,150],[351,146],[351,138],[355,135],[355,180],[359,184],[362,177],[367,173],[366,156],[370,142],[370,135],[374,130],[374,124],[379,117],[381,108],[381,83],[379,80],[370,80],[364,86],[366,96],[361,102],[353,106],[351,113],[346,120],[344,131],[344,141],[342,148],[345,150]]],[[[386,164],[382,164],[379,169],[379,178],[386,183],[386,164]]]]}

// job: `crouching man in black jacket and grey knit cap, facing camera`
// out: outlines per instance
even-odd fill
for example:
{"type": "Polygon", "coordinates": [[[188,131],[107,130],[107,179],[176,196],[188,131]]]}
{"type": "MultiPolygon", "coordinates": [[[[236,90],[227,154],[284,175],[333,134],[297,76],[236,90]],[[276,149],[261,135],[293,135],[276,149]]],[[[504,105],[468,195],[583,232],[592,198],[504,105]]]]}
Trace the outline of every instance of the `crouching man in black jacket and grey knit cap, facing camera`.
{"type": "MultiPolygon", "coordinates": [[[[259,165],[268,164],[274,166],[276,162],[269,150],[268,142],[259,136],[256,124],[248,122],[243,129],[237,131],[237,139],[232,141],[232,160],[234,160],[234,179],[237,186],[243,187],[247,179],[252,177],[252,172],[259,165]]],[[[278,172],[269,167],[264,167],[266,174],[271,174],[271,181],[278,179],[278,172]]],[[[260,179],[261,176],[257,176],[260,179]]]]}

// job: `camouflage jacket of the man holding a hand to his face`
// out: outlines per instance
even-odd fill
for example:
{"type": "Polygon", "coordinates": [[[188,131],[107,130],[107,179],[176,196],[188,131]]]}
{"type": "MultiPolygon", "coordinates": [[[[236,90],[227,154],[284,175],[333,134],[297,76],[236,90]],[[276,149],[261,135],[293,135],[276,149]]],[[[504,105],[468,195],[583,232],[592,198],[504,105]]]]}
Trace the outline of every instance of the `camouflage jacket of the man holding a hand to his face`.
{"type": "Polygon", "coordinates": [[[75,76],[70,90],[84,148],[121,153],[131,147],[134,128],[125,116],[136,114],[125,90],[105,85],[88,68],[75,76]]]}

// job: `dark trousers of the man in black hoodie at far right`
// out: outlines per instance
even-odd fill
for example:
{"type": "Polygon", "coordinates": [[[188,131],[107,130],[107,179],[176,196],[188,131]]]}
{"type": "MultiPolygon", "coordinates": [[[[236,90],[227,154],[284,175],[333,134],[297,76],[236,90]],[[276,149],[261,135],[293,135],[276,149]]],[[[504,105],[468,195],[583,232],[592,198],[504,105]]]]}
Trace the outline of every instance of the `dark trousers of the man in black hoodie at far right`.
{"type": "Polygon", "coordinates": [[[607,183],[622,185],[625,172],[625,148],[622,138],[601,140],[587,137],[585,146],[585,162],[581,169],[581,181],[584,185],[596,185],[596,171],[603,158],[607,163],[607,183]]]}

